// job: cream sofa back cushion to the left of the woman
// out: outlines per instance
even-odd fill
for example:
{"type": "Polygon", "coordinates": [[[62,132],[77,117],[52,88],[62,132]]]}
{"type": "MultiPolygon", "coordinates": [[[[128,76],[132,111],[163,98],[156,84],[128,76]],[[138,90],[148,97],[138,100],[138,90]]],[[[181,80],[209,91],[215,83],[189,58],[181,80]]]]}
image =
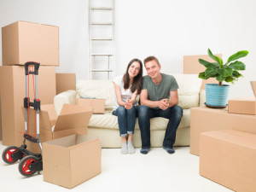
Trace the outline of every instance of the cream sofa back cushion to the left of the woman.
{"type": "Polygon", "coordinates": [[[76,89],[79,97],[105,99],[105,108],[113,108],[115,94],[111,80],[78,80],[76,89]]]}

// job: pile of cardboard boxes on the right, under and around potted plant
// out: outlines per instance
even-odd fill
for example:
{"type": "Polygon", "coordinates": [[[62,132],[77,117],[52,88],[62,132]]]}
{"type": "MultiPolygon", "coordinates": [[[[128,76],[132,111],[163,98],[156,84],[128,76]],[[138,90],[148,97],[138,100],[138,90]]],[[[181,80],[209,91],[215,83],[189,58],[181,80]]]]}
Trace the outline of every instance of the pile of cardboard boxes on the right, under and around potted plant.
{"type": "MultiPolygon", "coordinates": [[[[252,82],[256,96],[256,82],[252,82]]],[[[235,191],[256,189],[255,98],[229,101],[229,109],[192,108],[190,153],[200,174],[235,191]]]]}

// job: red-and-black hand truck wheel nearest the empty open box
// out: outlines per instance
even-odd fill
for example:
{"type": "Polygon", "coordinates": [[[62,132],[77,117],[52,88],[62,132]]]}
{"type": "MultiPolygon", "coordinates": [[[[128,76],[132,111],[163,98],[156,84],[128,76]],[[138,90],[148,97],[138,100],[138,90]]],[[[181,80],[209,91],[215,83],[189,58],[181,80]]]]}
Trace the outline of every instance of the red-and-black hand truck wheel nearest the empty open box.
{"type": "Polygon", "coordinates": [[[36,161],[38,161],[38,158],[32,155],[28,155],[24,157],[22,160],[20,160],[20,163],[19,163],[20,174],[25,177],[31,177],[35,173],[35,171],[30,170],[28,166],[36,161]]]}

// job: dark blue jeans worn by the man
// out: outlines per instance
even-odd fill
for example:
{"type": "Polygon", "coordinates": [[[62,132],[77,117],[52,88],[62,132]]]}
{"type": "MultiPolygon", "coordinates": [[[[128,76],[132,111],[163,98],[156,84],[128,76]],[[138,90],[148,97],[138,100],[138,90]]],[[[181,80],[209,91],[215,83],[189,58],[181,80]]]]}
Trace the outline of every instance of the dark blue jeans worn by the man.
{"type": "Polygon", "coordinates": [[[166,127],[166,135],[163,147],[172,148],[176,139],[177,126],[183,117],[183,109],[179,106],[173,106],[166,110],[148,108],[140,106],[138,109],[138,122],[141,130],[142,148],[150,148],[150,119],[154,117],[163,117],[169,119],[166,127]]]}

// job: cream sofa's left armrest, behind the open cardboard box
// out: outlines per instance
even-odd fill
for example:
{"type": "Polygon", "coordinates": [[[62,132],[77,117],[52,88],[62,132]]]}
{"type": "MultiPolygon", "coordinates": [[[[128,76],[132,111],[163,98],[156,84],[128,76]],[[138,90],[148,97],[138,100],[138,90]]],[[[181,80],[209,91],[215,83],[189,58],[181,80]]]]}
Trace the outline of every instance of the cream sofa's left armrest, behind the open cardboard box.
{"type": "Polygon", "coordinates": [[[59,115],[61,113],[61,108],[64,103],[75,104],[77,92],[75,90],[67,90],[55,96],[54,105],[56,113],[59,115]]]}

